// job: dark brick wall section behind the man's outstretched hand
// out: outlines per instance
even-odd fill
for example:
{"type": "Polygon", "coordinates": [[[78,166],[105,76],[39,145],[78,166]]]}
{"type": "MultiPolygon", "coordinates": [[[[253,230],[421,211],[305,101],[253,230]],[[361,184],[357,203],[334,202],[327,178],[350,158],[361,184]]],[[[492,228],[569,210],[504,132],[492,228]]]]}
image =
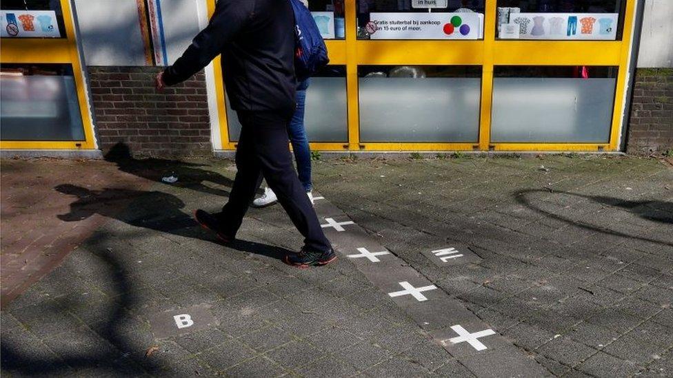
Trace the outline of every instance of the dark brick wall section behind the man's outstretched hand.
{"type": "Polygon", "coordinates": [[[134,156],[212,156],[205,75],[159,93],[157,67],[88,67],[103,153],[116,143],[134,156]]]}

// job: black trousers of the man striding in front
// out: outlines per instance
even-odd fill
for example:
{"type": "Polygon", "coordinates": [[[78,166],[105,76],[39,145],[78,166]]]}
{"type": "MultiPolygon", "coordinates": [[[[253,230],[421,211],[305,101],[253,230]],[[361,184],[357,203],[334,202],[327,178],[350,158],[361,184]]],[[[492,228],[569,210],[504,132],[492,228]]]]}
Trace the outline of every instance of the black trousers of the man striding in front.
{"type": "Polygon", "coordinates": [[[236,150],[238,169],[229,202],[219,214],[223,231],[236,235],[261,182],[266,179],[278,202],[312,251],[329,251],[330,241],[294,170],[288,139],[292,112],[238,112],[241,137],[236,150]]]}

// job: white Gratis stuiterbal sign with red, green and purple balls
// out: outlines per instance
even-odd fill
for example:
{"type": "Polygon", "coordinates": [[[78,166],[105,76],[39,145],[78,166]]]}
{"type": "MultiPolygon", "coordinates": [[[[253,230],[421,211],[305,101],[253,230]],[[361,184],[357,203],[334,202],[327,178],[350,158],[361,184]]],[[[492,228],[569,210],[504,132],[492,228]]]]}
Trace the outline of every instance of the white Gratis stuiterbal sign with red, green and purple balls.
{"type": "Polygon", "coordinates": [[[479,13],[370,13],[371,39],[479,39],[479,13]]]}

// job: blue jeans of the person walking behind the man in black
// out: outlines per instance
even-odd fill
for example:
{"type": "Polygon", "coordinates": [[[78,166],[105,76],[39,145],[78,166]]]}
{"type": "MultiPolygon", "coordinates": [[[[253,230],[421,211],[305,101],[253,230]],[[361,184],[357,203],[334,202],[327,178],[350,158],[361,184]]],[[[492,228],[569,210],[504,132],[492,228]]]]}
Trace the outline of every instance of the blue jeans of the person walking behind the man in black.
{"type": "Polygon", "coordinates": [[[294,111],[290,125],[288,126],[288,135],[294,151],[294,160],[297,162],[297,174],[299,181],[305,191],[311,191],[313,184],[311,182],[311,149],[308,146],[306,129],[304,128],[304,105],[306,103],[306,90],[308,89],[309,79],[301,81],[297,85],[297,109],[294,111]]]}

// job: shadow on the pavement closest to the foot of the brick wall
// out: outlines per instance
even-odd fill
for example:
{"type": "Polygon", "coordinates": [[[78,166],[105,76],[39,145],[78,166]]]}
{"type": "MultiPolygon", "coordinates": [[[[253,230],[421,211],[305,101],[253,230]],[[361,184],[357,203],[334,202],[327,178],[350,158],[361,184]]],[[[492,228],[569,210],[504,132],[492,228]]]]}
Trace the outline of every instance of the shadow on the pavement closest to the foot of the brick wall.
{"type": "Polygon", "coordinates": [[[159,158],[133,158],[128,145],[121,142],[110,148],[110,151],[105,155],[105,160],[114,162],[120,171],[155,182],[163,183],[161,180],[163,176],[169,176],[171,172],[175,172],[179,176],[179,180],[171,184],[172,186],[216,196],[228,196],[229,192],[205,185],[205,182],[227,188],[232,187],[234,183],[230,178],[204,169],[203,167],[207,167],[207,165],[203,164],[159,158]]]}

